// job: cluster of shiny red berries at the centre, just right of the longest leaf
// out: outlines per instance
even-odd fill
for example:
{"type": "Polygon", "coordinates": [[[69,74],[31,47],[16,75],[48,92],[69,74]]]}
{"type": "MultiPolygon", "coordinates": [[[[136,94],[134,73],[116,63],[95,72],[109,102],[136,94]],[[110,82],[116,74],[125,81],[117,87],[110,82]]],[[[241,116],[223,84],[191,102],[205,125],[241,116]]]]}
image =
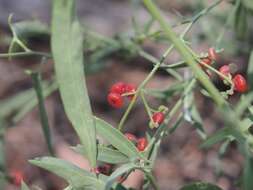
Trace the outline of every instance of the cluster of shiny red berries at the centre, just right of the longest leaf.
{"type": "Polygon", "coordinates": [[[108,103],[114,108],[121,108],[124,105],[123,97],[126,96],[130,100],[134,97],[136,87],[133,84],[125,84],[117,82],[112,85],[107,96],[108,103]]]}

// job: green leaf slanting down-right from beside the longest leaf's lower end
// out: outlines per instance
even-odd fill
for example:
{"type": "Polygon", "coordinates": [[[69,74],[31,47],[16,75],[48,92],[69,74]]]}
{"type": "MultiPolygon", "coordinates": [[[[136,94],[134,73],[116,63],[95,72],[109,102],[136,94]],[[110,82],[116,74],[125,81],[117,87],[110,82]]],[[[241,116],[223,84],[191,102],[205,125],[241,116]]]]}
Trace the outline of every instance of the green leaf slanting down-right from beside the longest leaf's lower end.
{"type": "Polygon", "coordinates": [[[129,158],[138,158],[141,154],[134,144],[129,141],[118,129],[102,119],[96,118],[97,133],[129,158]]]}

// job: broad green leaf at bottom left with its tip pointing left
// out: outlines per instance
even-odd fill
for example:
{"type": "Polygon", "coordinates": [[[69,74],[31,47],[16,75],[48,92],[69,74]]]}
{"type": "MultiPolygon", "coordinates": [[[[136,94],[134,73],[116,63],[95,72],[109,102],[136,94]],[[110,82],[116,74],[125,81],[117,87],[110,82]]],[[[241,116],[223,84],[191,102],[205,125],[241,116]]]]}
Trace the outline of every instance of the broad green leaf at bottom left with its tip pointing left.
{"type": "Polygon", "coordinates": [[[53,157],[43,157],[30,160],[29,162],[62,177],[73,188],[104,190],[104,182],[97,179],[95,174],[83,170],[67,161],[53,157]]]}

